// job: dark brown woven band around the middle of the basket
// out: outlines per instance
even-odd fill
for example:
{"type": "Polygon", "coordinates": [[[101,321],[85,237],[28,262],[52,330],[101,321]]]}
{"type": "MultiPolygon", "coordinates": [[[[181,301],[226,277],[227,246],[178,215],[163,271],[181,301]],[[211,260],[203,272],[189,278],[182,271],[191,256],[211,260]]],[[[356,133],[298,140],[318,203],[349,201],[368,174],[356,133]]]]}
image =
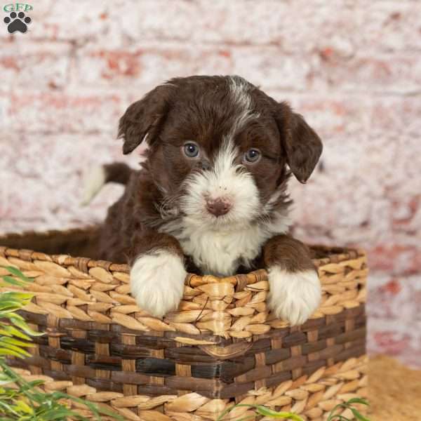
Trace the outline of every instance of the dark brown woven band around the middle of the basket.
{"type": "MultiPolygon", "coordinates": [[[[46,316],[23,314],[31,323],[38,323],[40,330],[46,329],[46,316]]],[[[366,349],[365,323],[365,309],[360,305],[334,316],[309,320],[300,328],[273,329],[255,340],[243,356],[221,361],[201,347],[179,347],[173,338],[180,333],[154,336],[151,332],[135,332],[135,343],[128,344],[122,343],[122,334],[131,330],[121,326],[110,325],[109,330],[104,330],[106,325],[99,326],[99,323],[61,319],[58,328],[47,330],[58,342],[57,339],[49,341],[48,335],[35,338],[39,355],[25,361],[13,360],[13,365],[39,367],[56,380],[78,377],[98,390],[123,392],[123,385],[137,385],[139,394],[178,394],[180,390],[195,390],[210,399],[229,399],[246,394],[255,387],[255,382],[264,381],[266,387],[272,387],[296,378],[295,370],[300,370],[301,375],[311,375],[320,367],[361,356],[366,349]],[[82,326],[87,329],[86,338],[74,338],[74,329],[82,326]],[[309,340],[311,338],[316,340],[309,340]],[[59,343],[60,348],[51,346],[53,343],[59,343]],[[291,356],[292,347],[294,356],[291,356]],[[105,354],[98,354],[98,349],[105,354]],[[80,359],[79,364],[73,363],[75,352],[84,355],[83,364],[80,359]],[[260,363],[256,363],[257,354],[260,363]],[[123,371],[123,360],[133,361],[136,372],[123,371]],[[62,371],[53,369],[53,361],[62,364],[62,371]],[[189,366],[185,372],[188,374],[178,375],[177,364],[189,366]],[[98,378],[97,370],[108,372],[108,377],[98,378]],[[163,384],[158,382],[159,377],[163,384]]],[[[218,338],[220,347],[234,343],[232,339],[215,335],[207,338],[218,338]]]]}

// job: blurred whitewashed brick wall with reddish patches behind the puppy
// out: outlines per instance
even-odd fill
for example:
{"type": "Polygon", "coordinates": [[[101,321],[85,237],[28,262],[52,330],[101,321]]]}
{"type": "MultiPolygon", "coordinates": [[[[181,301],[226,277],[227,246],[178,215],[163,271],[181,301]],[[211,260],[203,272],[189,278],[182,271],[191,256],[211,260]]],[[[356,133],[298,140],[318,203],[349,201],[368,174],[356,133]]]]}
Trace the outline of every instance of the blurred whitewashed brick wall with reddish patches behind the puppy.
{"type": "Polygon", "coordinates": [[[421,366],[419,2],[32,5],[27,34],[0,22],[1,232],[100,220],[121,190],[80,208],[81,175],[122,159],[123,110],[171,76],[240,74],[323,138],[311,182],[291,186],[298,236],[367,248],[370,350],[421,366]]]}

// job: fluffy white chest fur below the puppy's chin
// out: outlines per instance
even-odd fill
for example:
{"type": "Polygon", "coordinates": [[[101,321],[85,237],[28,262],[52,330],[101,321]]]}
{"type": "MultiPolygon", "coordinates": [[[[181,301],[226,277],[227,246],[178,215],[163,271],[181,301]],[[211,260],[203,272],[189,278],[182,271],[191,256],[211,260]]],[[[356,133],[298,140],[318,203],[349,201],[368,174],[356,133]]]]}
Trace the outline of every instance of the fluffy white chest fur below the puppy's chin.
{"type": "Polygon", "coordinates": [[[234,274],[240,265],[250,267],[269,238],[258,225],[222,232],[178,221],[168,222],[160,231],[175,236],[203,273],[222,276],[234,274]]]}

